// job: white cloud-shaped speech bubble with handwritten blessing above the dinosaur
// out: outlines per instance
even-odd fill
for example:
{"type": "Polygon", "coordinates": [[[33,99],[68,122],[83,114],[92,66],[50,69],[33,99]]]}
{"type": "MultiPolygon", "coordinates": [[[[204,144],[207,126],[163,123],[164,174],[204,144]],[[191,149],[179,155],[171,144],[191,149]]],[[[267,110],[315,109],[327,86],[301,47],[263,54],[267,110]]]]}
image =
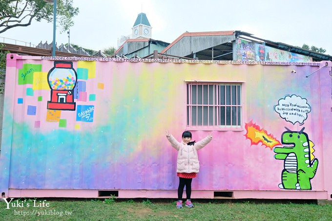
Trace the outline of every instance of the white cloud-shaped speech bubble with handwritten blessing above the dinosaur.
{"type": "Polygon", "coordinates": [[[290,121],[292,124],[299,122],[302,125],[307,120],[311,107],[307,103],[307,99],[293,94],[280,99],[278,105],[274,106],[274,111],[285,121],[290,121]]]}

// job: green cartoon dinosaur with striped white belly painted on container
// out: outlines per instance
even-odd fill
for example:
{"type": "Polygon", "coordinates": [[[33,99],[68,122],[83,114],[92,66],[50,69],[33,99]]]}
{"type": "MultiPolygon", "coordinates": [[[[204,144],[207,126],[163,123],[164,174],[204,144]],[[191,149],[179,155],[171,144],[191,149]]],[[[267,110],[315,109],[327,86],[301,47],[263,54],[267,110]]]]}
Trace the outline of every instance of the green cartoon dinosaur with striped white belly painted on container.
{"type": "Polygon", "coordinates": [[[281,174],[281,189],[311,190],[310,180],[315,176],[318,160],[314,158],[313,143],[304,131],[291,131],[285,127],[281,135],[284,147],[275,147],[274,158],[284,160],[284,169],[281,174]]]}

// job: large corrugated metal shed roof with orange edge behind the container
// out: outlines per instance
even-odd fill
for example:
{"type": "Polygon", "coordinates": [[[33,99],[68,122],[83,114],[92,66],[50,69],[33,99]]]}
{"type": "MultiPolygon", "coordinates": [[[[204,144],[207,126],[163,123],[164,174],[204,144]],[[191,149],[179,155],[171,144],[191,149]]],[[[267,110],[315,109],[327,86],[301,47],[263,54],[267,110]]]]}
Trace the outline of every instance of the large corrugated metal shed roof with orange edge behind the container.
{"type": "Polygon", "coordinates": [[[236,40],[242,39],[291,53],[311,57],[313,61],[332,60],[332,56],[289,44],[257,38],[242,31],[185,32],[161,53],[198,60],[236,60],[236,40]]]}

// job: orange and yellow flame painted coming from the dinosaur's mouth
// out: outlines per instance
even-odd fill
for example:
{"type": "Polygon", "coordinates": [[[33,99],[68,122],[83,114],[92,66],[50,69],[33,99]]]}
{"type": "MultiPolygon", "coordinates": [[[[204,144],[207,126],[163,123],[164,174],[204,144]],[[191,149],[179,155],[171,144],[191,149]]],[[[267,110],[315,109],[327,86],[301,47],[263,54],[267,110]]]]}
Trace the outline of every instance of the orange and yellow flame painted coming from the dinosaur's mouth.
{"type": "Polygon", "coordinates": [[[246,123],[245,128],[247,133],[244,136],[251,141],[251,145],[262,143],[262,145],[269,147],[271,150],[277,145],[282,145],[273,135],[268,134],[266,130],[261,129],[255,123],[252,123],[252,121],[246,123]]]}

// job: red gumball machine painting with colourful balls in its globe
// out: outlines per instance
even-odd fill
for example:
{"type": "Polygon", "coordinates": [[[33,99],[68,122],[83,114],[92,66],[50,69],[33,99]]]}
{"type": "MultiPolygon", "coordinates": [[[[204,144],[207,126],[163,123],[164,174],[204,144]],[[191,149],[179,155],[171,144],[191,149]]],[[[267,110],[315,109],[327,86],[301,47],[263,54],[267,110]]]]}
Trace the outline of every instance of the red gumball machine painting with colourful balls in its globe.
{"type": "Polygon", "coordinates": [[[77,74],[70,61],[54,61],[54,67],[47,75],[48,85],[51,88],[51,100],[47,101],[47,109],[74,111],[74,87],[77,74]]]}

